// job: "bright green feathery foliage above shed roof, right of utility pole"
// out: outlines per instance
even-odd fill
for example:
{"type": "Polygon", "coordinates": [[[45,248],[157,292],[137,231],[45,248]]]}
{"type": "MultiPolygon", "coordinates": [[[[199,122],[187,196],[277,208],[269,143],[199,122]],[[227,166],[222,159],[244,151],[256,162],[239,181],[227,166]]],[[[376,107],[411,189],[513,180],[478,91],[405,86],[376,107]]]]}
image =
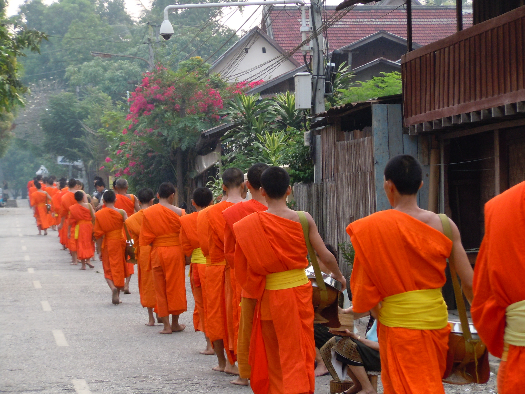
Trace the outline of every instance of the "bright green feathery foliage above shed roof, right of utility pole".
{"type": "Polygon", "coordinates": [[[381,72],[381,74],[383,76],[364,82],[357,81],[356,86],[348,89],[338,89],[337,105],[400,94],[402,91],[401,73],[393,71],[381,72]]]}

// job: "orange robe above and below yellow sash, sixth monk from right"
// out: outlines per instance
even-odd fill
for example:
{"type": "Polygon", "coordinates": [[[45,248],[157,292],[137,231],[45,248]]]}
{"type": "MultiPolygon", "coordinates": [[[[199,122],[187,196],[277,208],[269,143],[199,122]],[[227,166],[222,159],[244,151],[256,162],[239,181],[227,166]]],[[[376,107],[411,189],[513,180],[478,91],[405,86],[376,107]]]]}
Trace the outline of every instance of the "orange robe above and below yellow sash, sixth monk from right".
{"type": "MultiPolygon", "coordinates": [[[[198,212],[190,213],[181,217],[180,242],[184,255],[190,257],[195,249],[201,247],[197,235],[198,212]]],[[[190,284],[192,287],[195,308],[193,309],[193,328],[195,331],[204,332],[204,301],[203,284],[205,278],[206,264],[191,263],[190,284]]]]}

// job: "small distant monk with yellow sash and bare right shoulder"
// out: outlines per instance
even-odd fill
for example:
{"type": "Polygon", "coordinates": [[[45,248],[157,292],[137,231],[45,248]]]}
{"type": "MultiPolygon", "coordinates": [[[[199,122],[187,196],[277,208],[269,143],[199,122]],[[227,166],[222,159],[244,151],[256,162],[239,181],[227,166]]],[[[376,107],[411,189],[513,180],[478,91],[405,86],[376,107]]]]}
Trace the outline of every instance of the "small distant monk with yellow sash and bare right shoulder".
{"type": "Polygon", "coordinates": [[[89,263],[89,259],[95,255],[95,245],[93,245],[93,223],[95,222],[95,210],[91,204],[83,202],[84,192],[75,192],[77,204],[69,207],[69,228],[68,237],[73,237],[77,241],[77,258],[82,263],[79,269],[95,268],[89,263]]]}

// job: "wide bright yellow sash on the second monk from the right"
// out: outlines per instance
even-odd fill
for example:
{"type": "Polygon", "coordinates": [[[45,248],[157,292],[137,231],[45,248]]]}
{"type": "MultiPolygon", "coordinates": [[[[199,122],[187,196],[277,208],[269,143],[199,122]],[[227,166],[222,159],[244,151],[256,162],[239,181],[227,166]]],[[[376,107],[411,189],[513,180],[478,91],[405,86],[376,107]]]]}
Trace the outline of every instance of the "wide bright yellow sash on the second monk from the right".
{"type": "Polygon", "coordinates": [[[448,324],[440,288],[414,290],[383,298],[379,321],[388,327],[437,330],[448,324]]]}

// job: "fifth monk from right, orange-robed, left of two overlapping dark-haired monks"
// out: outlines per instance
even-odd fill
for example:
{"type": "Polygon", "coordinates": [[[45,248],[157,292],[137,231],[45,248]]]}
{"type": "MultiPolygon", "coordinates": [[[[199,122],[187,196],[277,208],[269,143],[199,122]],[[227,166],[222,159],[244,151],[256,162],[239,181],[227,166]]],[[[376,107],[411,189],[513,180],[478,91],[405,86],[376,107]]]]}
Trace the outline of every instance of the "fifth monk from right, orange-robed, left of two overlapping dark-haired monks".
{"type": "MultiPolygon", "coordinates": [[[[223,190],[226,198],[212,205],[206,212],[208,221],[208,249],[210,262],[206,265],[206,322],[209,340],[212,341],[219,365],[214,370],[226,374],[238,375],[233,352],[233,339],[228,338],[226,299],[232,299],[229,266],[224,255],[224,226],[226,222],[222,212],[234,202],[242,200],[244,192],[244,174],[238,168],[228,168],[223,172],[223,190]],[[224,358],[224,350],[228,362],[224,358]]],[[[246,194],[245,194],[246,196],[246,194]]],[[[231,303],[230,303],[231,305],[231,303]]],[[[233,334],[233,333],[232,333],[233,334]]]]}

